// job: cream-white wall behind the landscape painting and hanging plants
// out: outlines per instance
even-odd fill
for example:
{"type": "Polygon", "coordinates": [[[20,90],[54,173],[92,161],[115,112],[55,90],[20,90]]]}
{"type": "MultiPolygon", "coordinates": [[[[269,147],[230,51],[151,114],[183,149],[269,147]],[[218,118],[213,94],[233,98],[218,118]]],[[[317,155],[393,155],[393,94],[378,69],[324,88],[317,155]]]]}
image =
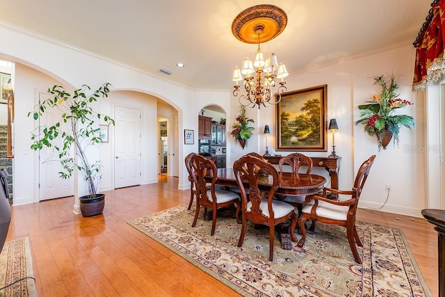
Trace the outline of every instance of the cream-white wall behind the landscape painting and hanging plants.
{"type": "MultiPolygon", "coordinates": [[[[421,216],[421,209],[426,207],[425,194],[425,150],[411,150],[413,147],[424,147],[425,103],[420,95],[411,92],[412,76],[414,70],[415,51],[409,42],[398,45],[386,51],[374,52],[367,55],[350,58],[319,67],[317,69],[291,74],[286,78],[287,90],[300,90],[313,86],[327,84],[327,122],[336,118],[339,130],[336,131],[336,151],[341,159],[339,172],[339,187],[350,188],[355,173],[362,162],[372,154],[376,154],[375,163],[366,182],[365,189],[360,198],[360,207],[378,208],[387,198],[385,184],[391,184],[389,199],[382,207],[382,211],[398,214],[421,216]],[[380,92],[378,86],[373,86],[372,77],[385,74],[397,76],[400,97],[414,102],[414,105],[401,109],[400,112],[414,116],[416,128],[412,131],[403,127],[400,134],[399,146],[394,147],[392,142],[387,150],[378,152],[375,137],[364,133],[363,126],[355,125],[359,120],[357,106],[363,104],[371,95],[380,92]],[[419,98],[416,100],[416,98],[419,98]]],[[[236,100],[236,99],[235,99],[236,100]]],[[[237,101],[237,100],[236,100],[237,101]]],[[[235,102],[237,103],[237,102],[235,102]]],[[[231,114],[238,110],[235,104],[231,114]]],[[[254,135],[248,140],[248,147],[241,150],[234,145],[233,138],[230,161],[233,163],[243,154],[250,151],[264,153],[266,138],[263,134],[264,125],[269,125],[270,136],[268,146],[276,148],[275,129],[276,115],[273,106],[261,109],[248,108],[248,116],[255,120],[254,135]]],[[[231,123],[234,116],[227,118],[231,123]]],[[[230,132],[229,125],[227,126],[230,132]]],[[[309,156],[326,156],[332,150],[332,135],[327,137],[327,152],[305,152],[309,156]]],[[[282,152],[283,155],[290,152],[282,152]]]]}

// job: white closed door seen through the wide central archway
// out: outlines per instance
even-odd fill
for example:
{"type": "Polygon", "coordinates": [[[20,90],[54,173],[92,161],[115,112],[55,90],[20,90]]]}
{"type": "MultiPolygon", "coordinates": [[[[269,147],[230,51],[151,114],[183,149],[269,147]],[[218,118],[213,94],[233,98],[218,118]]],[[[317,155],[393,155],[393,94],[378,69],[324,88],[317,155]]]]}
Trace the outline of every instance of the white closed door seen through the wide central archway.
{"type": "Polygon", "coordinates": [[[115,106],[115,188],[140,184],[140,109],[115,106]]]}

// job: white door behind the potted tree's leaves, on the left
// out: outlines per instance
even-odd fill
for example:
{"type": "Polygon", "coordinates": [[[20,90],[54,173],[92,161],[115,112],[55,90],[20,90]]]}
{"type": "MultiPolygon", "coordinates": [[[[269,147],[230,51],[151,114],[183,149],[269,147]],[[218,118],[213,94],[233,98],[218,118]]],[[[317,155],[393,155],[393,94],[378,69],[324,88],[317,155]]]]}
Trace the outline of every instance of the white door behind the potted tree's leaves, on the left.
{"type": "MultiPolygon", "coordinates": [[[[39,101],[47,99],[49,95],[39,93],[39,101]]],[[[42,116],[39,117],[40,127],[50,127],[61,118],[61,111],[58,109],[46,109],[42,116]]],[[[61,125],[66,126],[68,124],[61,125]]],[[[64,129],[62,127],[61,129],[64,129]]],[[[62,143],[61,138],[58,144],[62,143]]],[[[44,147],[39,151],[39,200],[48,200],[60,197],[74,195],[73,177],[70,179],[62,179],[58,172],[62,170],[62,166],[58,161],[58,156],[51,148],[44,147]]]]}

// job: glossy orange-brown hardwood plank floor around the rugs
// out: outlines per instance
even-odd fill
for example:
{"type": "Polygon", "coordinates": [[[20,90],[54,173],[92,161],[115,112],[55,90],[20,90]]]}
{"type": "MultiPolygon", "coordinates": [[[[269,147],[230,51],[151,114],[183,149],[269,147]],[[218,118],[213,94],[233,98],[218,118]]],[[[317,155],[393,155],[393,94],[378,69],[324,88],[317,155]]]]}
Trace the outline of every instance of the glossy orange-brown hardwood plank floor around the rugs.
{"type": "MultiPolygon", "coordinates": [[[[178,179],[106,191],[103,215],[72,212],[74,198],[13,207],[7,240],[29,236],[38,296],[239,296],[127,224],[188,203],[178,179]]],[[[359,209],[357,220],[397,227],[438,295],[437,232],[423,218],[359,209]]]]}

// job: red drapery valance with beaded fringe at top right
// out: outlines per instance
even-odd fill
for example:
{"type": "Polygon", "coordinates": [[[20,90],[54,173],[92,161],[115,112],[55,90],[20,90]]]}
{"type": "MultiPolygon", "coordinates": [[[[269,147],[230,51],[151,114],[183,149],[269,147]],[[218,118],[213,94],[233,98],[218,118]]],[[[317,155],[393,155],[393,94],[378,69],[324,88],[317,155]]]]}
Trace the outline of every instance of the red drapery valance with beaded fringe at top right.
{"type": "Polygon", "coordinates": [[[414,42],[416,62],[412,90],[425,90],[445,73],[445,0],[434,1],[426,22],[414,42]]]}

